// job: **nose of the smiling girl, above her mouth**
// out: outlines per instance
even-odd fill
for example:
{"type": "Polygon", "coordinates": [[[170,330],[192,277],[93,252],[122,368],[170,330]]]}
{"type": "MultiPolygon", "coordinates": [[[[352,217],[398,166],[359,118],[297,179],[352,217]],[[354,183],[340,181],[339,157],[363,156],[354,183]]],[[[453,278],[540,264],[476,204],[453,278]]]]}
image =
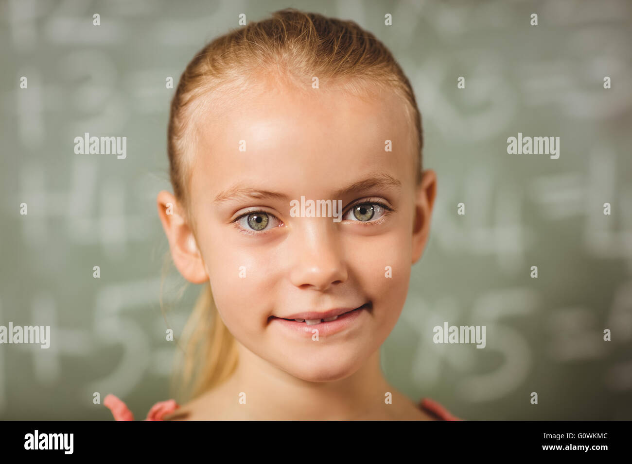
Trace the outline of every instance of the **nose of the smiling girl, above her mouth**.
{"type": "Polygon", "coordinates": [[[331,218],[301,218],[291,231],[290,281],[296,287],[324,291],[347,280],[347,268],[331,218]]]}

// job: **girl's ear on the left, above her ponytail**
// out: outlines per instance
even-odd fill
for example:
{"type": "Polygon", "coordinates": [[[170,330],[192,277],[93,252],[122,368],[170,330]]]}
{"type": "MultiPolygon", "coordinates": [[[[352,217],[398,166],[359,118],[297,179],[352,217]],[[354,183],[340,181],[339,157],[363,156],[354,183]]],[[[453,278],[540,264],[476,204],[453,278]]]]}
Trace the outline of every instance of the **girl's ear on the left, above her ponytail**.
{"type": "Polygon", "coordinates": [[[186,223],[184,210],[176,197],[163,190],[158,194],[156,201],[162,228],[169,240],[171,257],[179,273],[191,283],[208,282],[209,275],[195,235],[186,223]]]}

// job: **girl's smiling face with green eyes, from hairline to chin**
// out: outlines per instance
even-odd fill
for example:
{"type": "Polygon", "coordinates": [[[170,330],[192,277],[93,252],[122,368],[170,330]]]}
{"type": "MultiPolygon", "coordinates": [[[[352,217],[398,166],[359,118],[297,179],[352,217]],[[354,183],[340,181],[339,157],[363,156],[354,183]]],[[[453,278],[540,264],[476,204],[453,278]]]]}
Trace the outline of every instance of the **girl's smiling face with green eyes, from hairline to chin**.
{"type": "Polygon", "coordinates": [[[252,353],[332,381],[358,370],[398,320],[435,177],[425,171],[415,186],[415,133],[394,93],[277,87],[198,116],[188,189],[199,253],[176,266],[210,281],[224,324],[252,353]],[[336,209],[301,216],[301,198],[336,209]]]}

